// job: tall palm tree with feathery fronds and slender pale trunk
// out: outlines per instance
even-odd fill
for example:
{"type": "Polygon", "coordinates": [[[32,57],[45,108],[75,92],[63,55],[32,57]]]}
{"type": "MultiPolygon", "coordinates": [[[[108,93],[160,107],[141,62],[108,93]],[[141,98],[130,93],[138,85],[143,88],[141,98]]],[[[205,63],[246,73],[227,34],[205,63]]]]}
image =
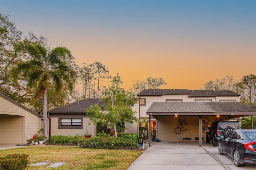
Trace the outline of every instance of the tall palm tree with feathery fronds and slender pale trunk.
{"type": "Polygon", "coordinates": [[[26,45],[26,52],[30,59],[17,63],[12,69],[12,75],[15,81],[20,77],[26,77],[28,87],[36,87],[32,101],[43,97],[44,135],[48,140],[47,89],[52,84],[55,87],[55,93],[58,94],[65,83],[72,92],[76,79],[75,65],[72,61],[74,58],[66,47],[47,50],[38,43],[26,45]]]}

